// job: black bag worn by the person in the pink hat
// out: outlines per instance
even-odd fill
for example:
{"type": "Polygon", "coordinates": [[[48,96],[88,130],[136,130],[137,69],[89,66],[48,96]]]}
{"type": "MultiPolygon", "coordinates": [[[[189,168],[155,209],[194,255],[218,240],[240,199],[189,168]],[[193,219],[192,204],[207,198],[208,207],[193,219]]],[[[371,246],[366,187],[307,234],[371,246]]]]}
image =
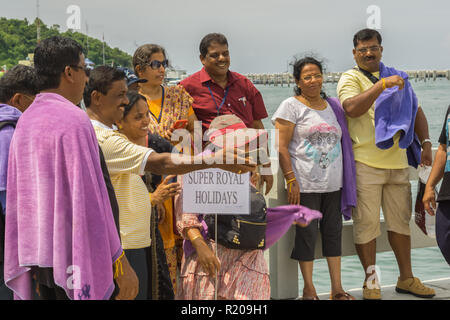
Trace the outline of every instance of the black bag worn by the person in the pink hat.
{"type": "MultiPolygon", "coordinates": [[[[253,186],[249,215],[218,215],[217,242],[229,249],[263,250],[266,247],[266,200],[253,186]]],[[[203,217],[210,239],[215,237],[215,215],[203,217]]]]}

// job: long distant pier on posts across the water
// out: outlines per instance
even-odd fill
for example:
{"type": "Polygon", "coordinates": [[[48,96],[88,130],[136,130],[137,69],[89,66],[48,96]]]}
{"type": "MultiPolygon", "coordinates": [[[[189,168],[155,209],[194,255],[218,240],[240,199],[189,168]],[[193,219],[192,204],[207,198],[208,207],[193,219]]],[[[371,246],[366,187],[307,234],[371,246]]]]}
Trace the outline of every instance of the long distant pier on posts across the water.
{"type": "MultiPolygon", "coordinates": [[[[415,81],[436,80],[437,78],[446,78],[450,80],[450,70],[411,70],[405,71],[410,79],[415,81]]],[[[324,74],[324,82],[338,82],[342,72],[327,72],[324,74]]],[[[245,76],[253,84],[262,84],[269,86],[290,86],[295,83],[292,73],[249,73],[245,76]]]]}

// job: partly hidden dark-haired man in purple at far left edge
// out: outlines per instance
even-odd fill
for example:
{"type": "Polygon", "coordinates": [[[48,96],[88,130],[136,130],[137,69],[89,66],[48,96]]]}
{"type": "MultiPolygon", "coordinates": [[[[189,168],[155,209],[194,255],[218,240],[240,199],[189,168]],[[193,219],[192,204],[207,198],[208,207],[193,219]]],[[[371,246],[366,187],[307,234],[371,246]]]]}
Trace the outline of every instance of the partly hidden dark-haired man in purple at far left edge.
{"type": "Polygon", "coordinates": [[[17,65],[0,79],[0,300],[13,294],[3,280],[3,248],[6,209],[6,178],[11,139],[19,117],[34,100],[37,83],[34,69],[17,65]]]}

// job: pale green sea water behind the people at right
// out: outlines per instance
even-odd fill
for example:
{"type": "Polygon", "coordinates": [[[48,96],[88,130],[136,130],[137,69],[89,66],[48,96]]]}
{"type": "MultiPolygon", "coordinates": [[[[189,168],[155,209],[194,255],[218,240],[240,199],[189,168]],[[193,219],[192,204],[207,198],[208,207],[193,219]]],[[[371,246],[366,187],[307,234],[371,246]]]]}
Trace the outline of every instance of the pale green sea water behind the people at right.
{"type": "MultiPolygon", "coordinates": [[[[430,132],[430,139],[433,148],[439,143],[439,135],[444,123],[445,113],[450,105],[450,81],[447,79],[436,79],[425,81],[411,80],[411,84],[416,93],[419,105],[422,107],[427,120],[430,132]]],[[[324,91],[330,97],[336,97],[336,83],[325,83],[324,91]]],[[[263,120],[265,128],[273,129],[270,118],[277,110],[280,103],[294,95],[294,85],[281,86],[256,86],[266,105],[269,117],[263,120]]],[[[413,208],[416,201],[417,181],[411,181],[413,198],[413,208]]],[[[411,250],[411,261],[413,273],[422,281],[448,278],[450,277],[450,266],[438,247],[419,248],[411,250]]],[[[399,275],[397,262],[392,251],[377,253],[377,266],[380,268],[381,285],[393,285],[397,282],[399,275]]],[[[357,256],[342,257],[342,285],[345,290],[361,288],[364,281],[364,272],[357,256]]],[[[303,289],[303,279],[299,271],[299,295],[303,289]]],[[[328,273],[328,266],[325,259],[317,259],[314,263],[313,281],[317,293],[327,293],[330,291],[331,282],[328,273]]]]}

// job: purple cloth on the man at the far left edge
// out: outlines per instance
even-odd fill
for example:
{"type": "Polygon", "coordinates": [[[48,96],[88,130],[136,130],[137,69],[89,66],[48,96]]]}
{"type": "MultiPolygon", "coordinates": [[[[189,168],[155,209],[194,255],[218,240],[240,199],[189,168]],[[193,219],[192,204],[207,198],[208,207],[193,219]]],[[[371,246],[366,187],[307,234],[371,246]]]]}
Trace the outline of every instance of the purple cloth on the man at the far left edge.
{"type": "MultiPolygon", "coordinates": [[[[22,115],[18,109],[7,104],[0,104],[0,122],[17,122],[22,115]]],[[[5,126],[0,129],[0,191],[6,190],[6,174],[8,169],[9,145],[14,133],[13,126],[5,126]]]]}

